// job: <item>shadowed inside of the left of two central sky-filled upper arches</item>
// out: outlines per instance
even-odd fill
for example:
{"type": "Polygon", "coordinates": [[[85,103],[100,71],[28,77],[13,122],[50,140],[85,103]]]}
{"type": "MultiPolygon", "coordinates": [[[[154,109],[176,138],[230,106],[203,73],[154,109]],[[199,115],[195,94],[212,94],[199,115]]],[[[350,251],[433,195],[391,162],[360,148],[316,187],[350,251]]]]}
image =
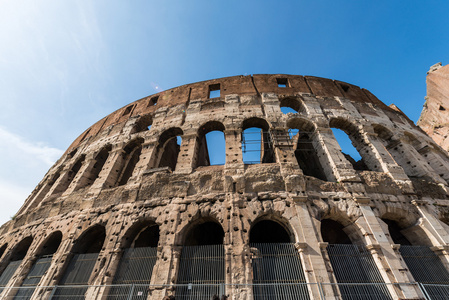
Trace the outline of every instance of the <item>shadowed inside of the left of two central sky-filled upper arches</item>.
{"type": "Polygon", "coordinates": [[[223,125],[223,123],[221,123],[219,121],[209,121],[198,128],[198,137],[197,137],[197,143],[196,143],[196,147],[195,147],[196,155],[194,158],[194,165],[196,167],[211,165],[211,162],[210,162],[211,152],[210,152],[210,149],[209,149],[209,146],[207,143],[206,135],[209,133],[212,133],[212,132],[221,132],[222,139],[223,139],[222,142],[224,142],[224,151],[223,151],[223,157],[220,160],[222,160],[223,162],[225,161],[226,143],[225,143],[225,138],[224,138],[224,131],[225,131],[225,126],[223,125]]]}

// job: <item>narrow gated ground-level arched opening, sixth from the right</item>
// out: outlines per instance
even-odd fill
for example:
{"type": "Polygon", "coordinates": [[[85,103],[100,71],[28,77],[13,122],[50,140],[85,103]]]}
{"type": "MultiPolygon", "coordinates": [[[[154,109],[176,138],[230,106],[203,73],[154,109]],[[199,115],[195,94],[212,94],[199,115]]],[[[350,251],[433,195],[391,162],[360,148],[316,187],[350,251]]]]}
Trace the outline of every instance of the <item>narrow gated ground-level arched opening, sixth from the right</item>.
{"type": "Polygon", "coordinates": [[[71,295],[84,295],[87,291],[86,285],[98,259],[106,238],[105,228],[94,225],[86,230],[78,239],[70,251],[71,258],[68,259],[67,267],[59,281],[59,285],[82,285],[57,289],[55,295],[63,298],[71,295]]]}

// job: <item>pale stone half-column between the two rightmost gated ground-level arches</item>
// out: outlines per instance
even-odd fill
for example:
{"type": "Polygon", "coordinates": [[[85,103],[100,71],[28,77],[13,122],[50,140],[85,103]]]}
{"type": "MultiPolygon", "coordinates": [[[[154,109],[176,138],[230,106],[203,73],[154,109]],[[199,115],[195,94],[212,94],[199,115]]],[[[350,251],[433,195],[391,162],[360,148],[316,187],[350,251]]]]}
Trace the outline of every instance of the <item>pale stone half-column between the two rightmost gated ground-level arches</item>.
{"type": "MultiPolygon", "coordinates": [[[[379,220],[371,209],[369,198],[359,197],[355,201],[359,204],[363,217],[356,223],[367,230],[365,236],[366,248],[373,255],[374,261],[385,283],[410,282],[413,278],[405,263],[399,258],[399,253],[385,235],[379,220]]],[[[412,285],[387,285],[394,299],[418,299],[420,293],[418,288],[412,285]]]]}

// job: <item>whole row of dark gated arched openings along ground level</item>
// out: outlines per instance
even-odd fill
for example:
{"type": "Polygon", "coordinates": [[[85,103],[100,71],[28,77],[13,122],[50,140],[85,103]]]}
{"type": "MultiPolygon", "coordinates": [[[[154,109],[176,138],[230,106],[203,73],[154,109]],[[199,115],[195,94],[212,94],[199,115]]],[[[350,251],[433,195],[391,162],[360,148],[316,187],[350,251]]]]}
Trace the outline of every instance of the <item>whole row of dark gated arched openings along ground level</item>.
{"type": "MultiPolygon", "coordinates": [[[[413,225],[413,230],[404,228],[404,222],[384,218],[387,236],[391,238],[392,244],[401,245],[400,254],[414,279],[422,283],[449,283],[449,272],[440,258],[429,248],[431,242],[426,233],[413,225]]],[[[369,251],[364,247],[364,234],[355,223],[343,225],[334,219],[323,219],[320,222],[320,237],[323,242],[328,243],[324,255],[329,256],[331,268],[338,283],[379,283],[381,285],[366,288],[366,293],[384,295],[383,299],[391,299],[389,291],[382,285],[384,279],[379,272],[378,266],[369,251]],[[348,272],[352,270],[352,272],[348,272]],[[370,290],[373,289],[373,290],[370,290]]],[[[94,267],[99,261],[99,256],[104,250],[107,234],[103,225],[94,225],[82,233],[70,249],[66,263],[57,275],[58,285],[77,286],[88,285],[94,273],[94,267]]],[[[225,232],[218,221],[211,217],[199,219],[188,226],[184,238],[181,241],[182,249],[178,262],[177,284],[219,284],[225,282],[225,232]]],[[[132,225],[120,240],[120,258],[115,260],[108,268],[113,270],[112,284],[150,284],[153,268],[161,259],[158,255],[160,240],[159,225],[154,221],[140,220],[132,225]]],[[[22,239],[4,257],[0,269],[0,287],[6,286],[15,271],[21,265],[22,260],[33,242],[32,237],[22,239]]],[[[22,282],[22,286],[36,287],[45,275],[52,263],[53,254],[58,251],[62,242],[62,233],[56,231],[42,242],[31,258],[32,266],[22,282]]],[[[265,216],[256,220],[249,231],[248,245],[251,247],[251,267],[253,283],[264,283],[265,287],[254,286],[255,299],[263,299],[264,295],[274,293],[274,288],[288,288],[292,292],[292,286],[288,283],[306,283],[301,256],[295,247],[294,230],[288,221],[278,216],[265,216]],[[270,283],[279,286],[270,287],[270,283]],[[258,296],[259,295],[259,296],[258,296]]],[[[307,241],[306,241],[307,242],[307,241]]],[[[3,245],[0,249],[4,249],[3,245]]],[[[104,261],[104,258],[103,258],[104,261]]],[[[104,265],[104,263],[102,263],[104,265]]],[[[97,266],[98,268],[98,266],[97,266]]],[[[209,299],[218,291],[201,289],[197,291],[186,286],[180,287],[179,295],[192,295],[198,299],[209,299]],[[194,293],[194,294],[192,294],[194,293]]],[[[77,293],[84,294],[87,287],[76,288],[77,293]],[[81,291],[81,289],[84,289],[81,291]]],[[[215,288],[216,289],[216,288],[215,288]]],[[[308,295],[307,288],[302,285],[294,287],[297,295],[308,295]]],[[[354,297],[356,291],[354,286],[340,287],[343,299],[354,297]]],[[[15,295],[17,299],[28,299],[33,294],[33,289],[19,290],[15,295]]],[[[73,295],[73,290],[61,289],[57,296],[73,295]]],[[[120,294],[119,287],[111,287],[107,294],[112,298],[120,294]]],[[[136,291],[137,292],[137,291],[136,291]]],[[[146,290],[146,293],[149,293],[146,290]]],[[[285,291],[287,292],[287,291],[285,291]]],[[[140,294],[141,295],[141,294],[140,294]]],[[[364,299],[363,295],[359,295],[364,299]]],[[[366,295],[365,295],[366,296],[366,295]]],[[[178,298],[178,297],[177,297],[178,298]]],[[[179,297],[184,299],[183,297],[179,297]]],[[[187,299],[187,298],[185,298],[187,299]]],[[[351,298],[353,299],[353,298],[351,298]]],[[[358,298],[357,298],[358,299],[358,298]]]]}

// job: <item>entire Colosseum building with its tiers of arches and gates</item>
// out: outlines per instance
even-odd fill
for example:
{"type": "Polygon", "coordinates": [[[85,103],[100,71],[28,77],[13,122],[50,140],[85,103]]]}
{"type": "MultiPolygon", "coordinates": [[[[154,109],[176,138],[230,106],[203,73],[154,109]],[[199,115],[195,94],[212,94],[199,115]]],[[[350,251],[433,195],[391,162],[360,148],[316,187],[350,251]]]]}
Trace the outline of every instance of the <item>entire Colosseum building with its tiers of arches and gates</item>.
{"type": "Polygon", "coordinates": [[[449,299],[448,182],[448,154],[366,89],[187,84],[50,168],[0,228],[1,299],[449,299]]]}

